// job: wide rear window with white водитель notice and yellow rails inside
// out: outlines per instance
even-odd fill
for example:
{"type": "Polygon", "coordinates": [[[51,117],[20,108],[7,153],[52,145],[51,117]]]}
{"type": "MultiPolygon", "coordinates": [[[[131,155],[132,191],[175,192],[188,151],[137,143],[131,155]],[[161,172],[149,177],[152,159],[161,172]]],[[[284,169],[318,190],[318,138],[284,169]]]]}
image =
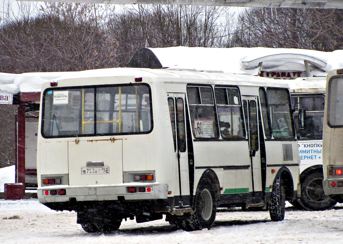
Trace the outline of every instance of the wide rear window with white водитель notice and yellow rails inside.
{"type": "Polygon", "coordinates": [[[150,101],[145,84],[49,88],[43,95],[42,135],[147,133],[152,129],[150,101]]]}

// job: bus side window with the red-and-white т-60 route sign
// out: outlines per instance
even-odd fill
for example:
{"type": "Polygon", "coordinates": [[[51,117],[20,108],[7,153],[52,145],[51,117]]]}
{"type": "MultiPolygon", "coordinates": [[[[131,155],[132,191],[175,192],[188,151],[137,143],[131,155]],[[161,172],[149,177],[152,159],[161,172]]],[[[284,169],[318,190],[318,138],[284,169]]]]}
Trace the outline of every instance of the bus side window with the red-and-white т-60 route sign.
{"type": "Polygon", "coordinates": [[[187,97],[195,138],[218,138],[212,88],[188,86],[187,97]]]}

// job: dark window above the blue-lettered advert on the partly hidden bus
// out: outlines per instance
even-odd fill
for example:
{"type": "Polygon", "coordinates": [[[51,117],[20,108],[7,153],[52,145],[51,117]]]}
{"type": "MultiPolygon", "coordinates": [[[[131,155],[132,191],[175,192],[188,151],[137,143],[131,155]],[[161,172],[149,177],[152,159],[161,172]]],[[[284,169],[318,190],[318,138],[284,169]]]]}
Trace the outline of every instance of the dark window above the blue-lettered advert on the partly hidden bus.
{"type": "Polygon", "coordinates": [[[303,130],[299,130],[298,112],[294,113],[295,128],[298,139],[322,139],[324,121],[324,100],[325,97],[323,95],[292,96],[292,103],[295,111],[298,111],[299,108],[306,109],[305,126],[303,130]]]}

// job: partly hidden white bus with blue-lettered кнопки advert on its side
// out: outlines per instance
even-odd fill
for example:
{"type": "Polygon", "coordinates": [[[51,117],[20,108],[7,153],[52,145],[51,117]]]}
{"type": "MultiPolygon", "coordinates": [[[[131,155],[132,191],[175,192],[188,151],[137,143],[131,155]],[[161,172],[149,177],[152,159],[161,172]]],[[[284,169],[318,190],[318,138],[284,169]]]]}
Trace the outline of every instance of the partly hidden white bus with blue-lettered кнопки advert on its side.
{"type": "Polygon", "coordinates": [[[289,80],[294,120],[300,153],[301,195],[291,203],[307,210],[326,210],[336,201],[323,190],[322,135],[326,77],[301,77],[289,80]],[[298,111],[305,109],[304,128],[299,129],[298,111]]]}

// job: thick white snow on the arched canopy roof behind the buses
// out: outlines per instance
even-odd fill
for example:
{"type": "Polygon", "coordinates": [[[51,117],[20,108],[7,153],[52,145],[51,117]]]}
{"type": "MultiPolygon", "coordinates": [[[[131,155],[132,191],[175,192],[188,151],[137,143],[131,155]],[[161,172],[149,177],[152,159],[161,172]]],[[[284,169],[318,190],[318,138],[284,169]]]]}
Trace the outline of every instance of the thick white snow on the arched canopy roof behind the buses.
{"type": "Polygon", "coordinates": [[[258,63],[264,70],[306,71],[304,60],[318,65],[311,69],[314,76],[326,76],[327,71],[343,66],[343,50],[322,52],[294,48],[149,48],[163,67],[198,70],[220,70],[225,73],[258,75],[258,63]],[[319,69],[322,68],[322,69],[319,69]]]}

